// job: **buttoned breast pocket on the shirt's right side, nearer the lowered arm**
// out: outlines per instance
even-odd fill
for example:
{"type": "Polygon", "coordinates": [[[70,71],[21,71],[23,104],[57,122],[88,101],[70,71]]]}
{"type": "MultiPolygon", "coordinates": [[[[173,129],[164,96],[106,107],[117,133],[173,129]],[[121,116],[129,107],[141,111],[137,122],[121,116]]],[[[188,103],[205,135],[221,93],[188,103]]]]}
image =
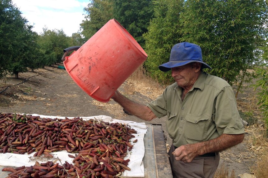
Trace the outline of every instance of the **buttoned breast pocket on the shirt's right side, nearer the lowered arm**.
{"type": "Polygon", "coordinates": [[[201,115],[186,115],[185,136],[188,143],[205,141],[209,125],[209,117],[201,115]]]}

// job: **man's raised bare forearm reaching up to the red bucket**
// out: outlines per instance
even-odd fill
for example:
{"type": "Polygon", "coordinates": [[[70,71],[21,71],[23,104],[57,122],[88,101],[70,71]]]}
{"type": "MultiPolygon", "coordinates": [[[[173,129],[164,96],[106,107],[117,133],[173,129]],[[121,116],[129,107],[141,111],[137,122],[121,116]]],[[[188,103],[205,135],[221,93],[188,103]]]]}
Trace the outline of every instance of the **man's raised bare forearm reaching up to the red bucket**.
{"type": "Polygon", "coordinates": [[[112,99],[118,104],[120,104],[129,113],[131,113],[132,115],[136,115],[143,120],[150,121],[156,118],[155,114],[150,110],[149,107],[131,101],[130,99],[124,97],[118,91],[115,92],[112,99]]]}

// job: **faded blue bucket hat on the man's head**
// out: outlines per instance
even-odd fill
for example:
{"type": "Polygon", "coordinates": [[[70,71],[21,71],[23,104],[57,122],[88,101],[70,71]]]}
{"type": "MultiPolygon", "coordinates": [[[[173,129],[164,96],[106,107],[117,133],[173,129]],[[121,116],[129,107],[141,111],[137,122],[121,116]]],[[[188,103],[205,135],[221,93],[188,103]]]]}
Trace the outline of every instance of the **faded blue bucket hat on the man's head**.
{"type": "Polygon", "coordinates": [[[200,46],[193,43],[183,42],[172,47],[169,62],[160,65],[158,68],[163,72],[167,72],[173,67],[179,67],[193,62],[202,63],[201,68],[211,69],[211,67],[202,60],[200,46]]]}

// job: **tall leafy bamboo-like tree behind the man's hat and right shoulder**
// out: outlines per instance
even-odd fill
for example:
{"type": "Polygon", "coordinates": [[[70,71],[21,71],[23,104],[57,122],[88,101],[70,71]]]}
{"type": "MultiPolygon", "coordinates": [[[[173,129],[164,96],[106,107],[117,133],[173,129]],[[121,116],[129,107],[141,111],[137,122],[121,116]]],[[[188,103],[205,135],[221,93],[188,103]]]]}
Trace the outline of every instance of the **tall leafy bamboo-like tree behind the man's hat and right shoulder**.
{"type": "Polygon", "coordinates": [[[267,37],[265,1],[187,0],[185,7],[180,41],[200,45],[210,73],[231,85],[240,82],[241,90],[243,82],[254,77],[249,69],[259,64],[258,46],[267,37]]]}

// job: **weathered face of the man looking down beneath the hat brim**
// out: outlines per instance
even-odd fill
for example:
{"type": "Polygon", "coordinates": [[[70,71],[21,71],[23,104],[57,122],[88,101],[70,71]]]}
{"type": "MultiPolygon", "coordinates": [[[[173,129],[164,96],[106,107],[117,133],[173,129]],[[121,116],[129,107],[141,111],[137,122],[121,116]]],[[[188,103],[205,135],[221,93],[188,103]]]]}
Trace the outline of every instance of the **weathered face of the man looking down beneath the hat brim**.
{"type": "Polygon", "coordinates": [[[186,89],[191,88],[196,81],[195,64],[189,63],[184,66],[171,68],[171,76],[177,82],[177,85],[186,89]]]}

